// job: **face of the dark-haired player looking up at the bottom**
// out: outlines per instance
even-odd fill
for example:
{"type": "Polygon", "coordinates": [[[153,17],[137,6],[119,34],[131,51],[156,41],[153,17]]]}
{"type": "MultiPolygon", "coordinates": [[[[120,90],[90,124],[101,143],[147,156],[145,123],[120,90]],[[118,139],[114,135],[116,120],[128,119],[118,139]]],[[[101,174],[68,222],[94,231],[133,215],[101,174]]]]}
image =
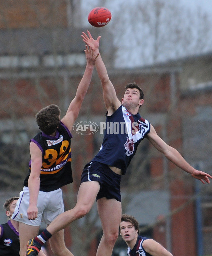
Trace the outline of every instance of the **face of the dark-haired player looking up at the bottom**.
{"type": "Polygon", "coordinates": [[[120,235],[122,236],[124,241],[130,242],[137,239],[137,233],[138,231],[135,230],[135,227],[131,222],[122,221],[120,223],[120,235]]]}

